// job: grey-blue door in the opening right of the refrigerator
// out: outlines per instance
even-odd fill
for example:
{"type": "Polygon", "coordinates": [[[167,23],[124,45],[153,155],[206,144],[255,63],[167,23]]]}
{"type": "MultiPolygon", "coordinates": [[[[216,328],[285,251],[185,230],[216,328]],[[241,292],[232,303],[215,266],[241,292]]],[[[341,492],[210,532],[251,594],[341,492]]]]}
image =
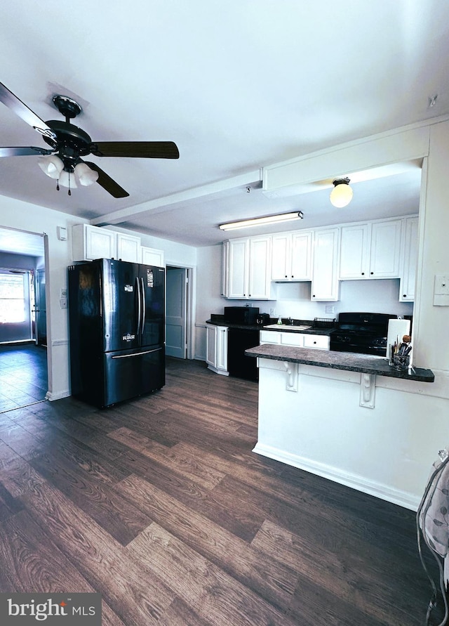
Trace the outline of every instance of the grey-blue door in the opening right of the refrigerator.
{"type": "Polygon", "coordinates": [[[166,355],[186,358],[187,269],[166,270],[166,355]]]}

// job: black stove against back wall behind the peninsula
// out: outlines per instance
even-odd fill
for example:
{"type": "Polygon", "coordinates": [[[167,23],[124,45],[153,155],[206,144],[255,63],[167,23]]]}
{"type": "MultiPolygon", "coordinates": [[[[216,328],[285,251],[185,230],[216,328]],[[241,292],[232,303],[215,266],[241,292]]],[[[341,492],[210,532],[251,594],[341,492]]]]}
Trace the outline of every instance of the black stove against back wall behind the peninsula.
{"type": "Polygon", "coordinates": [[[340,313],[330,333],[330,350],[387,356],[387,313],[340,313]]]}

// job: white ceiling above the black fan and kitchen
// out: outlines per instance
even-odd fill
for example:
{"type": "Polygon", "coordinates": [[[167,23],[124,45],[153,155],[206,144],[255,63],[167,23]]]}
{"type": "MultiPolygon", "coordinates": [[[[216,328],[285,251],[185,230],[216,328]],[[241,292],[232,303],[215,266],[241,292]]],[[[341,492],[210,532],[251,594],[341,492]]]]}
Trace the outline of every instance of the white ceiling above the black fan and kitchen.
{"type": "MultiPolygon", "coordinates": [[[[448,114],[448,9],[447,0],[7,3],[0,81],[20,100],[62,119],[52,97],[69,96],[93,141],[175,141],[180,159],[89,157],[130,194],[117,200],[96,184],[69,197],[36,157],[4,157],[0,194],[196,246],[227,238],[223,221],[285,210],[304,212],[302,228],[415,212],[417,167],[355,183],[343,213],[328,188],[264,196],[260,170],[448,114]]],[[[1,103],[0,145],[47,147],[1,103]]],[[[233,236],[246,232],[263,230],[233,236]]]]}

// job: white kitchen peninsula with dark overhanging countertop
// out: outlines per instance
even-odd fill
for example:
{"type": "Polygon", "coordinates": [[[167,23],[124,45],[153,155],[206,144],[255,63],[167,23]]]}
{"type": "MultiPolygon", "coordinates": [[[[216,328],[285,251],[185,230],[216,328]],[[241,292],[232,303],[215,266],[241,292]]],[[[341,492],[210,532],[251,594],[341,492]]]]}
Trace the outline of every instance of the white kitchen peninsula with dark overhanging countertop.
{"type": "Polygon", "coordinates": [[[273,344],[246,355],[259,365],[254,452],[417,507],[407,471],[415,459],[397,459],[412,436],[417,409],[426,417],[422,387],[434,382],[431,370],[395,370],[377,356],[273,344]]]}

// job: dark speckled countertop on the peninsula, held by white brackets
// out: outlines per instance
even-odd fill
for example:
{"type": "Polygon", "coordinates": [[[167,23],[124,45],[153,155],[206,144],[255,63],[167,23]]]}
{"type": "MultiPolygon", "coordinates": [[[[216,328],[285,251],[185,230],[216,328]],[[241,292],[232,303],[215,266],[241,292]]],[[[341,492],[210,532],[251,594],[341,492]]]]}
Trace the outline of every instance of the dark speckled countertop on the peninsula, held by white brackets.
{"type": "Polygon", "coordinates": [[[269,358],[290,363],[316,365],[316,367],[330,367],[333,370],[349,370],[349,372],[363,372],[364,374],[379,374],[390,378],[416,380],[420,382],[434,382],[434,372],[421,367],[409,370],[395,370],[388,365],[382,356],[356,354],[353,352],[328,352],[314,348],[296,348],[280,346],[279,344],[265,344],[245,351],[247,356],[269,358]]]}

